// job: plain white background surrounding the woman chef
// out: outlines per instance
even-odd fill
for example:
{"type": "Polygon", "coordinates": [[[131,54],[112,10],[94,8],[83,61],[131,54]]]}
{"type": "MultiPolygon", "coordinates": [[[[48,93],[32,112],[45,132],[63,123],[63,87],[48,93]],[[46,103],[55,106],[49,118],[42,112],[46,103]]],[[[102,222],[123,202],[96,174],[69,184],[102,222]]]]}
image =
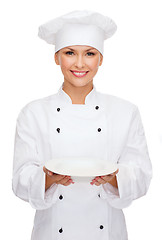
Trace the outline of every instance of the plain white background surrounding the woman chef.
{"type": "Polygon", "coordinates": [[[38,26],[73,10],[93,10],[113,18],[116,34],[105,42],[98,91],[138,105],[146,132],[153,179],[148,194],[124,210],[129,240],[162,239],[162,14],[160,0],[52,1],[0,3],[1,236],[29,240],[35,210],[12,192],[16,118],[28,102],[58,91],[63,76],[54,46],[37,37],[38,26]]]}

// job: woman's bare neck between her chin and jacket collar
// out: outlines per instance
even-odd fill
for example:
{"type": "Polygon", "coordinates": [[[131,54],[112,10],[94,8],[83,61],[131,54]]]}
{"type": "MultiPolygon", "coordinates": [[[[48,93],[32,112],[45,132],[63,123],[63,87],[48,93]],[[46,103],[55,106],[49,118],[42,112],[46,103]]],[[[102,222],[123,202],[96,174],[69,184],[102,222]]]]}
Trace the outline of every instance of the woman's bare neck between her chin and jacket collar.
{"type": "Polygon", "coordinates": [[[79,87],[64,81],[62,89],[69,95],[72,104],[85,104],[87,94],[93,89],[93,81],[79,87]]]}

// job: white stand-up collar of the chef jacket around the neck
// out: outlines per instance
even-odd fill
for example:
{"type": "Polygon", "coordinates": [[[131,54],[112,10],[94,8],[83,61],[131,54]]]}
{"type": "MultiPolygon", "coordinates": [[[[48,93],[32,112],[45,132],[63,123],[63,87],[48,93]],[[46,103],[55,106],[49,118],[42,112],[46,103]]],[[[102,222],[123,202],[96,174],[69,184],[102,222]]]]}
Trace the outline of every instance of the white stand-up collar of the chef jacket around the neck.
{"type": "Polygon", "coordinates": [[[96,87],[93,84],[93,89],[85,97],[85,104],[73,104],[70,96],[63,90],[63,83],[58,91],[59,100],[62,103],[72,104],[72,105],[87,105],[94,104],[96,102],[96,87]]]}

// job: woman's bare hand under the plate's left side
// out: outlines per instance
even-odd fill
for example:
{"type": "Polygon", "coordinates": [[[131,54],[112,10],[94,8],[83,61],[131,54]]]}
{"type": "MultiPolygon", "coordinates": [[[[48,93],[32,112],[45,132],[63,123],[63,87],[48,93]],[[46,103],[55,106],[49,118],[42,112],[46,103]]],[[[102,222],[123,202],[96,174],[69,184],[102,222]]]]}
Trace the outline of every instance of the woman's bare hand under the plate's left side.
{"type": "Polygon", "coordinates": [[[70,176],[53,173],[45,167],[43,167],[43,171],[46,173],[45,190],[47,190],[53,183],[62,184],[64,186],[68,186],[71,183],[74,183],[70,176]]]}

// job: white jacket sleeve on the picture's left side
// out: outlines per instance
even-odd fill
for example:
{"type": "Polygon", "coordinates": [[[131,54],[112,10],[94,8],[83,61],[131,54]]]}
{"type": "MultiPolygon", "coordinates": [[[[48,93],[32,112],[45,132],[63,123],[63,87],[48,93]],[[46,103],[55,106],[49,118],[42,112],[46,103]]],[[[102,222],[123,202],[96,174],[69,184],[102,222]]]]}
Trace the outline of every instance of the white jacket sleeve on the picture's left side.
{"type": "Polygon", "coordinates": [[[57,199],[57,184],[45,191],[44,163],[37,151],[35,124],[30,110],[24,108],[17,119],[12,189],[16,196],[35,209],[49,208],[57,199]]]}

